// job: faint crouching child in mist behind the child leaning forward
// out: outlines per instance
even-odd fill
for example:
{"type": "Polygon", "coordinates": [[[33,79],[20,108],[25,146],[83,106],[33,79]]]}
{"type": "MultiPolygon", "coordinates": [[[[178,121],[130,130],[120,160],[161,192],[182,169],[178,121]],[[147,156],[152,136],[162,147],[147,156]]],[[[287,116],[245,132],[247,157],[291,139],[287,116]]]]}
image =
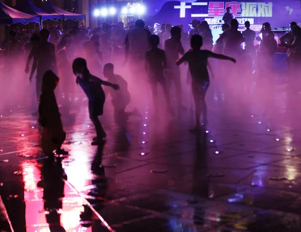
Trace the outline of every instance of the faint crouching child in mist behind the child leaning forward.
{"type": "Polygon", "coordinates": [[[130,103],[130,94],[127,90],[127,82],[119,75],[114,74],[114,65],[111,63],[105,64],[103,67],[103,76],[109,82],[115,83],[120,87],[118,92],[109,89],[112,97],[112,105],[114,106],[114,120],[116,123],[124,123],[130,116],[142,117],[137,108],[131,112],[125,112],[126,106],[130,103]]]}

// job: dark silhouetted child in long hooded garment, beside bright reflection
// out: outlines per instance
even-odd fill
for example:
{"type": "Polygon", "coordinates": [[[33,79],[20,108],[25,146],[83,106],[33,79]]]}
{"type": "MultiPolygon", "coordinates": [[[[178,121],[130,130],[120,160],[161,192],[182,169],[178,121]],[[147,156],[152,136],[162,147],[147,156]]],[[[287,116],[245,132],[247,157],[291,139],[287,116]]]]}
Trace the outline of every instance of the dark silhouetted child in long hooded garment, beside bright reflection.
{"type": "Polygon", "coordinates": [[[54,160],[53,150],[56,154],[68,154],[61,149],[66,139],[63,129],[61,114],[57,105],[54,90],[59,83],[59,78],[50,70],[46,71],[42,79],[42,93],[39,103],[39,123],[42,131],[42,149],[45,155],[54,160]]]}

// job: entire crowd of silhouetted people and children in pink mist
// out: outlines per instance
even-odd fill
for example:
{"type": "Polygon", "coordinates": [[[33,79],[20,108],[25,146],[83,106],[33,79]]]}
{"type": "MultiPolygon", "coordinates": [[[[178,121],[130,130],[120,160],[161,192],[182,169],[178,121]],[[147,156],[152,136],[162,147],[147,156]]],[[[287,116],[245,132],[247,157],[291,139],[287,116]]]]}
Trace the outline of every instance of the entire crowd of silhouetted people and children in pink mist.
{"type": "MultiPolygon", "coordinates": [[[[103,114],[106,94],[111,95],[116,123],[124,123],[130,116],[141,117],[137,108],[126,112],[126,107],[131,102],[128,80],[115,74],[115,66],[119,70],[122,66],[128,66],[131,79],[141,87],[137,90],[141,91],[140,97],[147,92],[152,93],[155,112],[158,112],[162,105],[158,98],[159,84],[163,90],[166,110],[171,117],[175,117],[171,87],[175,86],[179,113],[186,109],[182,100],[183,74],[181,77],[179,66],[182,63],[188,64],[187,83],[191,85],[196,119],[196,126],[190,131],[198,133],[202,130],[202,125],[207,124],[205,96],[210,84],[209,77],[212,75],[209,58],[229,60],[233,63],[238,60],[244,66],[250,61],[250,66],[255,65],[256,69],[272,69],[277,42],[270,24],[264,23],[261,36],[256,37],[255,32],[250,30],[249,22],[245,23],[246,29],[241,33],[238,31],[238,21],[232,18],[226,22],[226,18],[222,26],[223,33],[215,45],[208,23],[198,20],[192,21],[192,30],[188,34],[184,32],[182,25],[172,27],[170,24],[162,24],[161,30],[152,31],[142,20],[137,20],[127,29],[124,29],[122,23],[111,26],[103,23],[93,31],[80,28],[66,32],[67,29],[64,29],[57,45],[49,41],[51,35],[48,29],[42,29],[38,34],[34,33],[31,42],[26,46],[17,39],[16,30],[11,30],[6,45],[5,70],[14,69],[16,57],[26,53],[25,72],[29,74],[31,82],[36,73],[36,96],[39,100],[39,123],[43,127],[43,150],[50,156],[54,149],[58,154],[66,153],[61,149],[66,133],[63,130],[56,97],[61,98],[64,94],[68,98],[70,93],[76,92],[72,84],[75,83],[71,78],[72,73],[89,100],[89,116],[97,135],[92,145],[99,145],[106,137],[98,118],[103,114]],[[260,41],[257,51],[254,46],[255,39],[260,41]],[[123,62],[119,62],[120,60],[123,62]],[[59,77],[63,88],[56,90],[59,77]],[[109,88],[104,91],[102,86],[109,88]]],[[[290,27],[291,32],[281,37],[280,46],[288,48],[288,63],[296,70],[301,57],[301,30],[294,22],[290,27]]],[[[223,71],[232,69],[229,63],[219,65],[223,71]]],[[[233,72],[228,75],[229,78],[235,76],[233,72]]]]}

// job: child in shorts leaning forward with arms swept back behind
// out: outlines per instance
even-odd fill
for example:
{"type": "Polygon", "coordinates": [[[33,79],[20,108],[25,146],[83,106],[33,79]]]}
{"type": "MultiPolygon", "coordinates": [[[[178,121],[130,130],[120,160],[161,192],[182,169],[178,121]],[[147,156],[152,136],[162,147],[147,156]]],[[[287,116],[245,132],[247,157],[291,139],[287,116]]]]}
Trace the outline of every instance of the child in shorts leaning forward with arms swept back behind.
{"type": "Polygon", "coordinates": [[[103,81],[92,74],[87,68],[87,62],[83,58],[76,58],[72,64],[73,73],[76,76],[76,83],[80,85],[89,99],[89,116],[93,122],[97,137],[93,138],[92,145],[99,145],[106,137],[98,116],[103,114],[103,104],[105,101],[105,93],[101,85],[112,87],[118,90],[119,86],[103,81]]]}

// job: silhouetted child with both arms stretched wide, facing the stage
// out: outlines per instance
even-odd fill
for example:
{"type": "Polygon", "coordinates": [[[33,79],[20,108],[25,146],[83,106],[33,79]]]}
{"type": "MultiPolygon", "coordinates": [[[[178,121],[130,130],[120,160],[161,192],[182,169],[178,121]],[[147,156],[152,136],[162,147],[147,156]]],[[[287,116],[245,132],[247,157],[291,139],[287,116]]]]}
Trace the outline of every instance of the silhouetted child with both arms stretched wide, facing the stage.
{"type": "Polygon", "coordinates": [[[190,41],[192,50],[188,51],[177,61],[177,65],[188,62],[192,77],[192,94],[196,109],[196,127],[191,132],[199,132],[201,129],[200,117],[203,114],[204,123],[207,123],[207,106],[205,95],[209,87],[209,73],[207,69],[208,58],[219,60],[229,60],[236,63],[236,60],[221,54],[216,54],[208,50],[201,50],[203,38],[200,35],[193,35],[190,41]]]}

